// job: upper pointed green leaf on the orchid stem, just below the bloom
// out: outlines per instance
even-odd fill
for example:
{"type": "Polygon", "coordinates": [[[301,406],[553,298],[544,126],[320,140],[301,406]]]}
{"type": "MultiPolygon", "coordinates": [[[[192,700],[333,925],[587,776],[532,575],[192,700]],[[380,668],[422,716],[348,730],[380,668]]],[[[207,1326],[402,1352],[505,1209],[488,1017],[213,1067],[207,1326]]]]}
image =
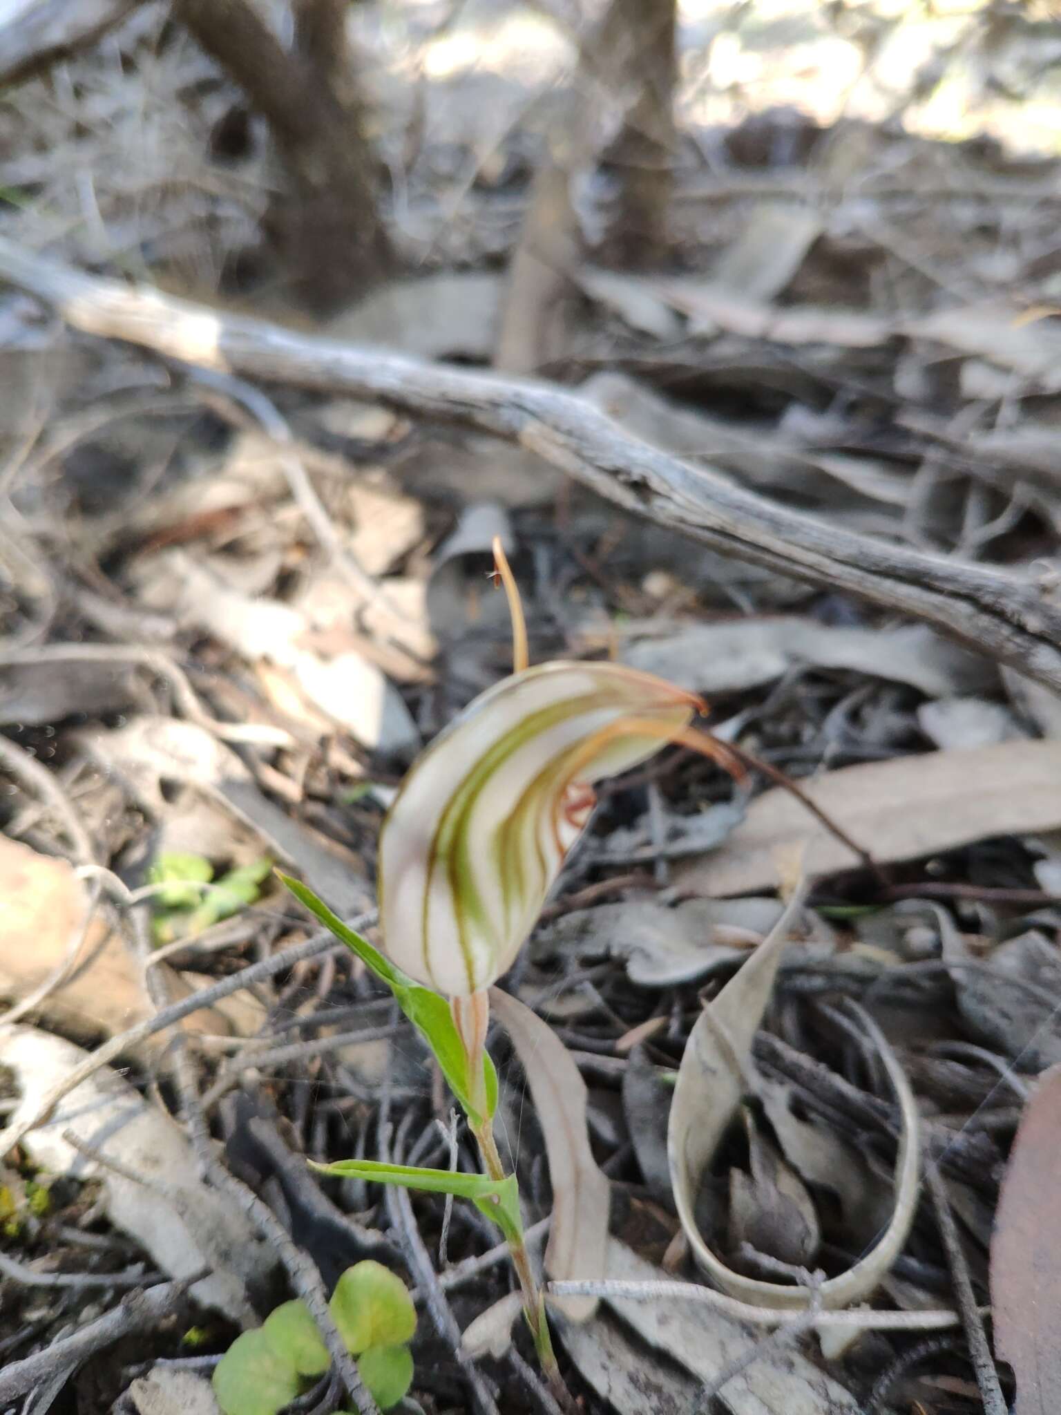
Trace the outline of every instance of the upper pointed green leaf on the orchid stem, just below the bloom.
{"type": "Polygon", "coordinates": [[[287,889],[294,894],[300,904],[303,904],[311,914],[314,914],[324,927],[332,932],[340,942],[345,944],[358,958],[365,964],[365,966],[385,982],[388,988],[393,992],[399,1007],[409,1017],[413,1026],[420,1032],[427,1046],[434,1053],[434,1057],[441,1067],[441,1073],[448,1081],[450,1090],[457,1097],[468,1119],[472,1125],[482,1125],[485,1121],[491,1119],[498,1104],[498,1078],[494,1070],[494,1063],[489,1057],[484,1058],[484,1082],[485,1094],[488,1101],[488,1114],[480,1115],[471,1101],[471,1084],[468,1078],[468,1056],[464,1050],[464,1043],[460,1039],[457,1026],[453,1020],[453,1013],[444,998],[440,998],[437,992],[431,992],[430,988],[422,988],[419,982],[403,974],[400,968],[395,968],[389,958],[373,948],[366,938],[355,932],[349,925],[344,924],[338,914],[332,913],[328,906],[317,899],[313,890],[307,889],[300,880],[291,879],[290,874],[280,874],[280,880],[287,886],[287,889]]]}

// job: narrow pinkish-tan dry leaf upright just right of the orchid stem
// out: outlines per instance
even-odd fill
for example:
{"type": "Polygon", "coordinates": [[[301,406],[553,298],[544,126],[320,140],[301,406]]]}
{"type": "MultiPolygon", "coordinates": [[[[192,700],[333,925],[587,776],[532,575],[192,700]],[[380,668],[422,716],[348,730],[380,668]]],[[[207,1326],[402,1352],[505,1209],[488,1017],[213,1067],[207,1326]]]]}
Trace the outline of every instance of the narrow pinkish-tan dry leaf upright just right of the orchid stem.
{"type": "MultiPolygon", "coordinates": [[[[549,1155],[553,1221],[545,1271],[557,1281],[603,1278],[608,1251],[611,1186],[597,1166],[586,1126],[586,1082],[547,1022],[499,988],[489,1005],[512,1039],[526,1073],[549,1155]]],[[[596,1298],[564,1298],[563,1312],[584,1322],[596,1298]]]]}

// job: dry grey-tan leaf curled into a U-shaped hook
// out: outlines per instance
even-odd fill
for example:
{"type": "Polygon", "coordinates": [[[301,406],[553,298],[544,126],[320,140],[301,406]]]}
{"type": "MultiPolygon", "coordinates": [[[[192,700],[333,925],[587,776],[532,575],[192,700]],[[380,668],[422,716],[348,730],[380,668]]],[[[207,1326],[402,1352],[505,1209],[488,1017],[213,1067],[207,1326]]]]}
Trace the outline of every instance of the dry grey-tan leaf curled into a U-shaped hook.
{"type": "MultiPolygon", "coordinates": [[[[781,954],[799,907],[801,897],[796,894],[770,935],[697,1019],[678,1073],[666,1145],[678,1217],[699,1265],[730,1296],[751,1306],[782,1309],[808,1306],[812,1300],[809,1288],[764,1282],[734,1272],[705,1242],[695,1206],[714,1153],[748,1087],[754,1085],[751,1044],[770,1002],[781,954]]],[[[880,1241],[866,1257],[821,1285],[818,1292],[826,1307],[862,1302],[873,1292],[901,1252],[917,1208],[917,1104],[891,1049],[883,1037],[877,1037],[877,1041],[903,1114],[894,1207],[880,1241]]]]}

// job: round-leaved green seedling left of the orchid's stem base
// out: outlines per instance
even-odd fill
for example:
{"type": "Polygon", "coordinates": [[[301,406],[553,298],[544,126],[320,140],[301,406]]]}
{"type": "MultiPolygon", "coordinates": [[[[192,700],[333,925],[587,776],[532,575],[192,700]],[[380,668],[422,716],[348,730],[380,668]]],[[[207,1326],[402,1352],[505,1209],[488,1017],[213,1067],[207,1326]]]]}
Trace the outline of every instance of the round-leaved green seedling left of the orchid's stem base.
{"type": "MultiPolygon", "coordinates": [[[[376,1405],[398,1405],[413,1381],[409,1341],[416,1332],[416,1307],[402,1279],[368,1258],[347,1268],[328,1307],[376,1405]]],[[[276,1415],[328,1364],[306,1305],[284,1302],[263,1326],[236,1337],[214,1370],[214,1394],[225,1415],[276,1415]]]]}

